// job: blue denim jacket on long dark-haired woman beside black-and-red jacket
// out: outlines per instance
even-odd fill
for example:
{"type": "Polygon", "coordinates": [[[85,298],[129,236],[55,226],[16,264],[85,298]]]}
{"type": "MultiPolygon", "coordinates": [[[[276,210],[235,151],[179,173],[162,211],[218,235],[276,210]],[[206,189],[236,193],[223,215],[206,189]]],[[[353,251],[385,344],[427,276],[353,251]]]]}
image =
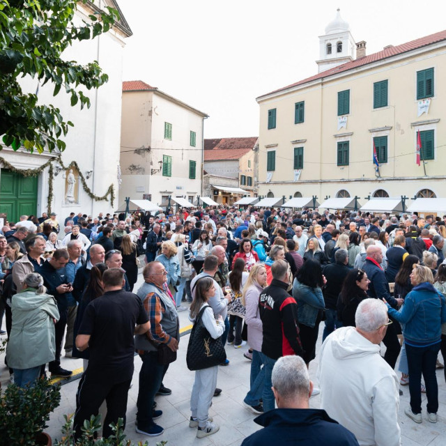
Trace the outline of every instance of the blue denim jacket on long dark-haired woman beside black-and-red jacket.
{"type": "Polygon", "coordinates": [[[322,290],[311,288],[294,279],[293,298],[298,302],[299,323],[314,327],[319,310],[325,308],[322,290]]]}

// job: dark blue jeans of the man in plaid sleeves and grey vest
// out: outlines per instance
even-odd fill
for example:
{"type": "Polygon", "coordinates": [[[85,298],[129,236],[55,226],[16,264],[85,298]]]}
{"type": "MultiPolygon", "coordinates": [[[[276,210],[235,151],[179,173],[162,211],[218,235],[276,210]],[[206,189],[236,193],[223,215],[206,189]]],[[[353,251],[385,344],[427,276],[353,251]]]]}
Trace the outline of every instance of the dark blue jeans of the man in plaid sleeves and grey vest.
{"type": "Polygon", "coordinates": [[[167,365],[158,364],[158,352],[149,351],[139,355],[142,360],[139,371],[139,392],[137,399],[137,422],[141,429],[153,426],[152,412],[155,394],[160,388],[167,365]]]}

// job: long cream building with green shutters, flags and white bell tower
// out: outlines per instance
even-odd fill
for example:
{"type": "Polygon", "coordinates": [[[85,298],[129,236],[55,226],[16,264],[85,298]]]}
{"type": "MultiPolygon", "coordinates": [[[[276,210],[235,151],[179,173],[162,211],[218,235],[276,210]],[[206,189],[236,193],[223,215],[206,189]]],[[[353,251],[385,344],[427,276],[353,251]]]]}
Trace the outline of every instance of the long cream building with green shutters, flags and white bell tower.
{"type": "Polygon", "coordinates": [[[367,55],[338,10],[319,41],[318,74],[256,98],[259,196],[446,197],[446,31],[367,55]]]}

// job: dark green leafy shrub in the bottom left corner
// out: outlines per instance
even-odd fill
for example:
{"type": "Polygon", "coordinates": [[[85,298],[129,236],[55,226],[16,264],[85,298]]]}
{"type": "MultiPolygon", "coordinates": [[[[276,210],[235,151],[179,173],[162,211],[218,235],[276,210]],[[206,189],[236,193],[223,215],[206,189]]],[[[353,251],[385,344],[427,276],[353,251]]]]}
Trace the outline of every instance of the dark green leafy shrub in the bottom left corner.
{"type": "Polygon", "coordinates": [[[51,385],[47,379],[37,380],[34,387],[8,385],[0,397],[1,445],[51,445],[43,429],[60,401],[59,386],[51,385]]]}

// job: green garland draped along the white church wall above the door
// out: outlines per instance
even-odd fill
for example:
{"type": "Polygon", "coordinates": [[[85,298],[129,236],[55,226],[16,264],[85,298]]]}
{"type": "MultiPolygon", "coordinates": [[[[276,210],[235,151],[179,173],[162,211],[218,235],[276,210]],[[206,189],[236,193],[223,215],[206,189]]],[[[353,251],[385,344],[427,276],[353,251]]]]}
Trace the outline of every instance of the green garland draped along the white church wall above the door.
{"type": "Polygon", "coordinates": [[[47,212],[51,213],[51,203],[52,199],[54,198],[54,192],[53,192],[53,183],[54,183],[54,169],[53,169],[53,162],[59,162],[61,167],[64,170],[70,169],[70,167],[74,167],[77,170],[77,173],[79,174],[81,178],[82,187],[84,188],[84,191],[86,194],[95,201],[105,201],[107,200],[107,197],[110,196],[110,203],[112,204],[112,207],[114,206],[114,187],[113,185],[109,185],[109,188],[107,189],[107,192],[105,192],[102,197],[99,197],[98,195],[93,194],[91,192],[90,187],[86,184],[86,179],[84,175],[82,174],[81,170],[79,169],[79,166],[77,165],[77,162],[72,161],[70,164],[68,164],[68,167],[66,167],[61,157],[52,157],[50,158],[45,164],[42,164],[40,167],[37,167],[36,169],[16,169],[13,164],[10,164],[8,161],[6,161],[3,157],[0,157],[0,163],[3,164],[3,167],[5,169],[9,169],[10,171],[14,172],[15,174],[20,174],[22,176],[28,177],[28,176],[38,176],[40,173],[42,173],[47,167],[49,167],[49,187],[48,187],[48,201],[47,201],[47,212]]]}

